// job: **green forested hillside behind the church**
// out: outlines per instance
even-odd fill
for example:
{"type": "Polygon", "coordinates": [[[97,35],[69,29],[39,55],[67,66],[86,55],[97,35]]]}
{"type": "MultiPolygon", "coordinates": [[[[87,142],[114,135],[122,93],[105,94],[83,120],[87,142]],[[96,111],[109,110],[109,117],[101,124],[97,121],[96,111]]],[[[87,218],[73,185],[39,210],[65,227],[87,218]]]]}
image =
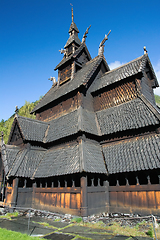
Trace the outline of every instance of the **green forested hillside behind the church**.
{"type": "MultiPolygon", "coordinates": [[[[40,99],[41,99],[41,97],[40,97],[40,99]]],[[[39,101],[40,100],[37,100],[37,101],[32,102],[32,103],[25,101],[25,104],[19,109],[18,115],[35,119],[36,116],[34,114],[30,114],[30,112],[37,105],[37,103],[39,101]]],[[[155,95],[155,101],[156,101],[156,104],[160,107],[160,96],[155,95]]],[[[13,120],[14,120],[14,116],[15,116],[15,114],[13,114],[8,120],[4,121],[2,119],[1,122],[0,122],[0,133],[3,131],[4,142],[6,144],[8,142],[9,134],[10,134],[10,131],[11,131],[13,120]]]]}

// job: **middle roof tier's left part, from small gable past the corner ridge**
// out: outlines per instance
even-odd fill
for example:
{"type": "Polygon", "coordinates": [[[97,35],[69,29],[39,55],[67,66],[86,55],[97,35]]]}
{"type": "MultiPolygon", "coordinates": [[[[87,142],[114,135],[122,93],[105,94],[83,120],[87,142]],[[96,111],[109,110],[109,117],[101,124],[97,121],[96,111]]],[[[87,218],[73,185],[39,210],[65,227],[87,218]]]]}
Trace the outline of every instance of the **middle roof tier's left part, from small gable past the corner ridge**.
{"type": "Polygon", "coordinates": [[[12,126],[18,124],[23,140],[49,143],[73,135],[79,131],[99,135],[100,130],[94,112],[81,106],[72,112],[62,115],[50,122],[43,122],[17,115],[12,126]]]}

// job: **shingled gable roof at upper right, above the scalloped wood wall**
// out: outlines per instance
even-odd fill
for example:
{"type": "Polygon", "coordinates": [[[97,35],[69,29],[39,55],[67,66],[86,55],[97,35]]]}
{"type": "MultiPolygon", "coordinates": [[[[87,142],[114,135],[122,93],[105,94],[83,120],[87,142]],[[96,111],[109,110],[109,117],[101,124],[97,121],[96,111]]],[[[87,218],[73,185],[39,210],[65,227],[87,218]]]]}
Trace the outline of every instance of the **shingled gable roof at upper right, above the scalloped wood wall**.
{"type": "Polygon", "coordinates": [[[96,92],[97,90],[100,90],[104,87],[107,87],[115,82],[119,82],[125,78],[131,77],[133,75],[136,75],[140,72],[143,72],[146,64],[149,64],[152,74],[155,79],[156,86],[158,86],[158,81],[156,78],[156,75],[154,73],[152,64],[149,60],[149,57],[147,54],[134,59],[133,61],[126,63],[118,68],[115,68],[109,72],[106,72],[101,78],[97,79],[92,85],[91,91],[96,92]]]}

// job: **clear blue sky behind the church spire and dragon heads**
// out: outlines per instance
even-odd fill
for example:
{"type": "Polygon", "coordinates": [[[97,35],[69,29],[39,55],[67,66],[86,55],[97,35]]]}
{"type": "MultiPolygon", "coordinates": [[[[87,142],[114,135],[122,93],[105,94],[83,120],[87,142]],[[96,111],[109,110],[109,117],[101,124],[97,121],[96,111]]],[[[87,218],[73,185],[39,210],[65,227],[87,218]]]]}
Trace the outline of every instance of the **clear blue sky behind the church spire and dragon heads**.
{"type": "MultiPolygon", "coordinates": [[[[105,58],[113,68],[143,55],[146,46],[160,82],[159,0],[0,0],[0,120],[8,119],[25,101],[36,101],[57,78],[59,49],[69,35],[71,5],[79,38],[92,58],[111,29],[105,58]]],[[[156,90],[160,95],[160,89],[156,90]]]]}

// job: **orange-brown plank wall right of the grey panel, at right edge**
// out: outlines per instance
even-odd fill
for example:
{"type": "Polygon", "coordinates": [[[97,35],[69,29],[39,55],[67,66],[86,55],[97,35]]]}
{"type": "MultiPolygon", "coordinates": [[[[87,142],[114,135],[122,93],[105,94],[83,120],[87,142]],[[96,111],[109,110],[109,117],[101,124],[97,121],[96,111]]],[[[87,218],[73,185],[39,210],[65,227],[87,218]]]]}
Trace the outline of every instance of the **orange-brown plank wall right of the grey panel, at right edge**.
{"type": "Polygon", "coordinates": [[[109,187],[110,212],[160,214],[160,184],[109,187]]]}

